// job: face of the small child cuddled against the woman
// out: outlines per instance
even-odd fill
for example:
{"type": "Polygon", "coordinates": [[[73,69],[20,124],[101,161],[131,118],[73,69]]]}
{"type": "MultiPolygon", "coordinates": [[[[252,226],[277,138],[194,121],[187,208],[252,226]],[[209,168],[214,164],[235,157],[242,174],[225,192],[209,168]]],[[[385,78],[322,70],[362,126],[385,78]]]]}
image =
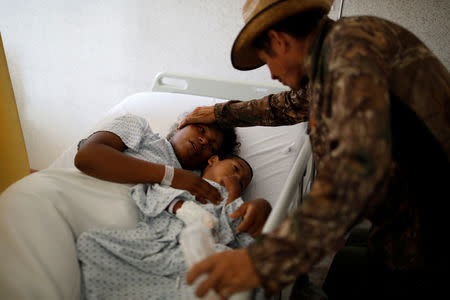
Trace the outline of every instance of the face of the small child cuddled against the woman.
{"type": "Polygon", "coordinates": [[[203,171],[203,177],[223,186],[226,186],[224,182],[227,178],[233,178],[228,180],[228,183],[238,185],[236,188],[242,192],[252,180],[252,173],[247,163],[240,158],[219,160],[219,157],[215,155],[209,159],[208,166],[203,171]]]}

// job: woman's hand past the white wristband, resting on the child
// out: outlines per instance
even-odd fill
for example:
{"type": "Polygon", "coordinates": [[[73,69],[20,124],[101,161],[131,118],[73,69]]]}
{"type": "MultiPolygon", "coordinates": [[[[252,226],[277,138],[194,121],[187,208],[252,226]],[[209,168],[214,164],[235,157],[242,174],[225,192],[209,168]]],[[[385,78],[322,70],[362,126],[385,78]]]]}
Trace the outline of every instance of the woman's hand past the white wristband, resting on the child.
{"type": "Polygon", "coordinates": [[[188,170],[176,168],[171,186],[176,189],[187,190],[195,196],[198,202],[203,204],[207,203],[207,200],[214,204],[223,200],[215,187],[188,170]]]}

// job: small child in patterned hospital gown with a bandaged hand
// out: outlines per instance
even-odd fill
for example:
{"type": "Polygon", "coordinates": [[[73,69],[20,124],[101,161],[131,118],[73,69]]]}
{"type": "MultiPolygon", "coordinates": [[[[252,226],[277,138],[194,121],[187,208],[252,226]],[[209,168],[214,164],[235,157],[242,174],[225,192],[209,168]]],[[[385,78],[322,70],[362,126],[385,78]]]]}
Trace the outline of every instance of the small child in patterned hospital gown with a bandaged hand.
{"type": "Polygon", "coordinates": [[[248,163],[237,156],[212,156],[203,178],[220,190],[224,200],[218,205],[197,205],[187,191],[140,184],[131,191],[140,212],[136,229],[92,230],[79,237],[85,298],[179,299],[187,269],[178,237],[185,223],[214,219],[219,251],[245,247],[252,241],[249,234],[236,233],[240,220],[230,218],[230,213],[243,205],[242,198],[233,198],[252,178],[248,163]],[[175,199],[179,201],[170,205],[175,199]],[[184,210],[191,213],[185,214],[184,210]],[[197,220],[196,214],[200,215],[197,220]]]}

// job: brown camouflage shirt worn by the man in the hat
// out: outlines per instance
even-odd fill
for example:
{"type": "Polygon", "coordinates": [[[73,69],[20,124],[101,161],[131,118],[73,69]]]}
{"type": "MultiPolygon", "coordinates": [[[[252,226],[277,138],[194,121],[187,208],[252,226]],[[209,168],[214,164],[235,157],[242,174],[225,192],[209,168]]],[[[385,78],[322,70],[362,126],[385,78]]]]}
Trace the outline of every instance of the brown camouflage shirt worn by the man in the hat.
{"type": "Polygon", "coordinates": [[[433,237],[450,199],[447,69],[412,33],[376,17],[322,20],[304,67],[304,89],[215,106],[222,126],[309,121],[318,165],[309,200],[249,247],[263,286],[279,290],[308,272],[361,218],[372,222],[377,264],[448,262],[433,237]]]}

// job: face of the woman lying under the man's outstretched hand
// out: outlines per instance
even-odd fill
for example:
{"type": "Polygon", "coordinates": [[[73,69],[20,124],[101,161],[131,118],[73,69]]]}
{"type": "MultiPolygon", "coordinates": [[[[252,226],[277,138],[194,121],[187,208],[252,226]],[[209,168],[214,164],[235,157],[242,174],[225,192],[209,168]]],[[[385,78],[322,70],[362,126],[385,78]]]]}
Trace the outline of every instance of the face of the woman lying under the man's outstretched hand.
{"type": "Polygon", "coordinates": [[[222,147],[223,134],[215,125],[192,124],[173,135],[170,142],[183,168],[199,168],[222,147]]]}

